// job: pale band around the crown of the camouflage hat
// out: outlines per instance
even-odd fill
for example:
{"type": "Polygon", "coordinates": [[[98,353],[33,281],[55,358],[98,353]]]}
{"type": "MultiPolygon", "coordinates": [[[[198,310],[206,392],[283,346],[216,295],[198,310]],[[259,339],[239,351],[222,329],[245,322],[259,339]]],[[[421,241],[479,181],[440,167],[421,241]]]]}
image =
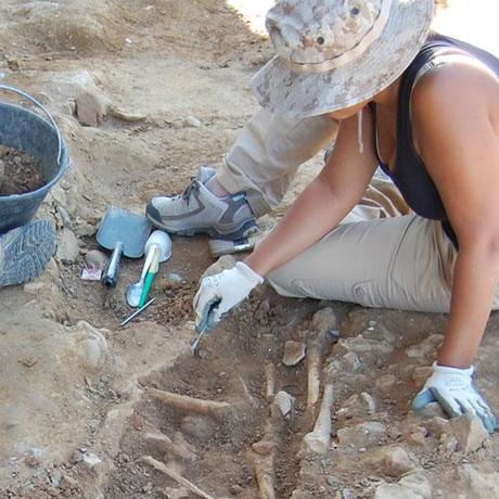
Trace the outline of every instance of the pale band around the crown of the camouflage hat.
{"type": "Polygon", "coordinates": [[[359,43],[334,59],[328,59],[327,61],[320,63],[297,63],[281,56],[279,59],[281,59],[294,73],[327,73],[329,71],[336,69],[337,67],[342,67],[362,55],[363,52],[366,52],[366,50],[368,50],[368,48],[378,40],[378,38],[380,38],[386,23],[388,22],[392,3],[393,0],[382,0],[380,14],[374,21],[372,28],[359,43]]]}

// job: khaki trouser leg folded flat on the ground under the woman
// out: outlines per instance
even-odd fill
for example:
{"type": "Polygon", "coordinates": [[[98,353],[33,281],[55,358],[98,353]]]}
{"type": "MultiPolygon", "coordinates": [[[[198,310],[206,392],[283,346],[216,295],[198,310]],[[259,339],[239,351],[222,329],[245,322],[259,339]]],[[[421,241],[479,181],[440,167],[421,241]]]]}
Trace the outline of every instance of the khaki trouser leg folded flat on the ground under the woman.
{"type": "Polygon", "coordinates": [[[411,214],[391,181],[374,178],[336,229],[268,281],[283,296],[448,312],[456,256],[439,221],[411,214]]]}

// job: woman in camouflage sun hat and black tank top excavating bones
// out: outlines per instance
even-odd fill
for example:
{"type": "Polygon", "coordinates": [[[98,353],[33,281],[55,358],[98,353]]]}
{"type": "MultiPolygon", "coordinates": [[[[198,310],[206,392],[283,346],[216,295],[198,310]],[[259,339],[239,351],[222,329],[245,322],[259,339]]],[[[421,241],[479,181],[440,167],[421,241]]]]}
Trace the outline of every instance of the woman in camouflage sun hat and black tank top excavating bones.
{"type": "Polygon", "coordinates": [[[492,432],[472,362],[499,308],[499,61],[431,34],[432,12],[431,0],[283,0],[269,11],[278,55],[255,76],[260,104],[331,115],[337,140],[274,230],[205,278],[194,306],[199,324],[216,323],[266,277],[285,296],[450,312],[413,407],[437,400],[492,432]],[[378,165],[412,214],[361,219],[378,165]]]}

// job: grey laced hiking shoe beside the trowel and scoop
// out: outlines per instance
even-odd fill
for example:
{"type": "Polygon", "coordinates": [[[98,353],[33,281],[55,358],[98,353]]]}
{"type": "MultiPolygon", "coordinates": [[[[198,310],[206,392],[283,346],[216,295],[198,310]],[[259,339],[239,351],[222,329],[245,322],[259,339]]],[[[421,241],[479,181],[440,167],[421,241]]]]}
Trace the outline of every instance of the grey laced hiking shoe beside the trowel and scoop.
{"type": "Polygon", "coordinates": [[[154,226],[180,235],[207,233],[215,239],[239,239],[254,232],[255,217],[243,192],[217,197],[205,188],[215,175],[202,166],[182,194],[153,197],[145,208],[154,226]]]}

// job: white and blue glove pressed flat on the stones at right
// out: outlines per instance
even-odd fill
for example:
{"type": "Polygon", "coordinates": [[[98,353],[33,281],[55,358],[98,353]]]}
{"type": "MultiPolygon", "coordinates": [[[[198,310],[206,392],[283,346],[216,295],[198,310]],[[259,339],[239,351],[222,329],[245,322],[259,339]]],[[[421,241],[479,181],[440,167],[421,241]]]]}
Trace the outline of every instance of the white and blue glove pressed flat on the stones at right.
{"type": "Polygon", "coordinates": [[[472,384],[473,366],[468,369],[449,368],[433,364],[433,374],[426,380],[423,389],[412,401],[412,408],[418,411],[430,402],[437,401],[451,418],[464,413],[476,414],[489,433],[496,428],[496,417],[487,402],[476,392],[472,384]]]}

